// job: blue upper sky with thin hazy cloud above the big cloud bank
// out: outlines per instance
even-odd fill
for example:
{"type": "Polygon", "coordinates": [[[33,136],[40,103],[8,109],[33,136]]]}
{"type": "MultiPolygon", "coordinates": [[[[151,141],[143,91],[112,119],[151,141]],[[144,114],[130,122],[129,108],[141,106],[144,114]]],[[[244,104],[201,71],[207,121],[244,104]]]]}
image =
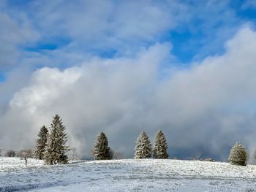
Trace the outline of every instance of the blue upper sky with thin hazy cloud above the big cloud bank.
{"type": "MultiPolygon", "coordinates": [[[[245,23],[255,25],[256,19],[254,1],[150,1],[148,6],[145,6],[146,1],[131,1],[129,4],[104,1],[102,6],[100,4],[99,1],[94,4],[90,1],[75,1],[73,4],[67,1],[2,1],[1,14],[17,25],[14,30],[18,31],[16,34],[12,31],[13,35],[31,33],[29,35],[33,37],[12,42],[13,50],[8,54],[13,57],[11,52],[15,51],[19,57],[13,59],[12,64],[1,61],[1,81],[5,80],[6,72],[20,65],[20,60],[26,60],[34,53],[50,57],[53,50],[113,58],[156,42],[170,42],[173,47],[171,54],[178,63],[189,65],[208,55],[222,54],[225,41],[245,23]],[[141,26],[135,23],[135,15],[129,15],[127,10],[122,12],[126,6],[134,8],[133,12],[138,16],[140,7],[146,7],[139,19],[141,26]],[[156,13],[150,9],[155,9],[156,13]],[[79,25],[83,19],[86,22],[79,25]]],[[[7,28],[4,32],[8,33],[8,30],[12,29],[7,28]]],[[[77,64],[56,61],[54,65],[67,67],[77,64]]],[[[30,66],[31,70],[34,66],[30,66]]]]}

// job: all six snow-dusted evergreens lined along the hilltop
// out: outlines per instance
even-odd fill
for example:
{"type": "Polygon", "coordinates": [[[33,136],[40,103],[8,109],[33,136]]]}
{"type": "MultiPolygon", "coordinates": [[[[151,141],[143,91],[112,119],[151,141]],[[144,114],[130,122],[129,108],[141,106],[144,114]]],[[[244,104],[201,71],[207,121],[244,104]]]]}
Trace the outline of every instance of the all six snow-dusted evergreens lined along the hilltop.
{"type": "MultiPolygon", "coordinates": [[[[67,152],[70,150],[67,143],[67,133],[59,115],[53,117],[50,128],[42,126],[36,140],[36,158],[45,161],[45,164],[67,164],[67,152]]],[[[104,132],[97,135],[92,150],[94,160],[109,160],[113,158],[114,152],[108,146],[108,138],[104,132]]],[[[152,147],[148,135],[141,131],[135,145],[134,158],[168,158],[167,141],[162,130],[157,131],[152,147]]],[[[230,164],[246,165],[246,149],[240,143],[236,143],[230,150],[228,161],[230,164]]]]}

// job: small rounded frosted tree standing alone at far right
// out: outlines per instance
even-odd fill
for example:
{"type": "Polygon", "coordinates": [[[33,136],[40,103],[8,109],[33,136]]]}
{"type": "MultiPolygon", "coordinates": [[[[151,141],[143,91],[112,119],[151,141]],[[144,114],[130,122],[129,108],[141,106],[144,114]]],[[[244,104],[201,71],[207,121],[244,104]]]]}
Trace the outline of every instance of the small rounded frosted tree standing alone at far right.
{"type": "Polygon", "coordinates": [[[236,143],[230,150],[230,157],[228,161],[230,164],[246,165],[247,153],[244,145],[236,143]]]}

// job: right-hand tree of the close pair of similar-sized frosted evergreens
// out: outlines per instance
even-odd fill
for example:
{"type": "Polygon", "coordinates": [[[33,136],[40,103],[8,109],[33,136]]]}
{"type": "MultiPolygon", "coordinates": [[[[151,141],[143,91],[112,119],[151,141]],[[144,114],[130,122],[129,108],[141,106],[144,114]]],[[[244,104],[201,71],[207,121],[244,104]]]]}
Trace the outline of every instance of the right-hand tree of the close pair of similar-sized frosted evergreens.
{"type": "Polygon", "coordinates": [[[153,158],[168,158],[165,134],[160,129],[154,140],[153,158]]]}

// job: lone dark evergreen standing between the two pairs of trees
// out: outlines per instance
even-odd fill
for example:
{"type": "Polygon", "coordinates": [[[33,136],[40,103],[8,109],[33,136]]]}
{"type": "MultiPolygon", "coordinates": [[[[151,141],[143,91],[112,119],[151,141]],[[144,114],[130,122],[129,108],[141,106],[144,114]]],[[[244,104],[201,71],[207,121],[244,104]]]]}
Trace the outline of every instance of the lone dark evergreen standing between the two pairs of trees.
{"type": "Polygon", "coordinates": [[[97,136],[94,144],[94,160],[110,159],[110,147],[108,147],[108,138],[103,132],[97,136]]]}

